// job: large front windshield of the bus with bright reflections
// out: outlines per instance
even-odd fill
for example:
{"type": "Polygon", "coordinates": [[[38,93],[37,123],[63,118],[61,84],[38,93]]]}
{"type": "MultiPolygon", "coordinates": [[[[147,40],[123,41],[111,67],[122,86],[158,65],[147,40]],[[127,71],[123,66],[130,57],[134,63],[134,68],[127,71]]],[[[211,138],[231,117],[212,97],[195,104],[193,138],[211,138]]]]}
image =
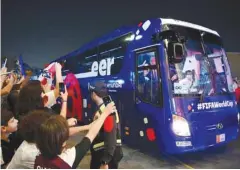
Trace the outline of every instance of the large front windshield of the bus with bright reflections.
{"type": "Polygon", "coordinates": [[[173,94],[209,96],[233,92],[230,68],[220,38],[189,28],[185,35],[184,60],[169,64],[173,94]]]}

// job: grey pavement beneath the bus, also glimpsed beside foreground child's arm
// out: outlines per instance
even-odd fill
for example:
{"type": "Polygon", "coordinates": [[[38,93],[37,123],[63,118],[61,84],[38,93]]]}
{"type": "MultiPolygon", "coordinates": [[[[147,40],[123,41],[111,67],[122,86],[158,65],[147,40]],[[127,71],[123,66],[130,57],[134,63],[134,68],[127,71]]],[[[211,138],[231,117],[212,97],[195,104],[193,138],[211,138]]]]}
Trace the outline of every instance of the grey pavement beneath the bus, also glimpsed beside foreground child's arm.
{"type": "MultiPolygon", "coordinates": [[[[68,144],[75,145],[83,136],[83,133],[79,133],[71,137],[68,144]]],[[[178,156],[161,154],[155,157],[125,145],[123,153],[120,169],[240,169],[240,137],[227,146],[178,156]]],[[[88,152],[78,168],[89,169],[90,160],[88,152]]]]}

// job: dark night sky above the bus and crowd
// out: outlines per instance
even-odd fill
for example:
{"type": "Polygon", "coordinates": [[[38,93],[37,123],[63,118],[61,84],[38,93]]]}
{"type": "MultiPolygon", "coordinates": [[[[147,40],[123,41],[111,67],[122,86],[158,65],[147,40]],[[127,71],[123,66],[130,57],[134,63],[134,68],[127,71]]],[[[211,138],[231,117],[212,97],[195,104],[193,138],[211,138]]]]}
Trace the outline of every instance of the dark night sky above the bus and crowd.
{"type": "Polygon", "coordinates": [[[240,0],[2,0],[2,56],[43,67],[123,25],[171,17],[209,27],[240,51],[240,0]]]}

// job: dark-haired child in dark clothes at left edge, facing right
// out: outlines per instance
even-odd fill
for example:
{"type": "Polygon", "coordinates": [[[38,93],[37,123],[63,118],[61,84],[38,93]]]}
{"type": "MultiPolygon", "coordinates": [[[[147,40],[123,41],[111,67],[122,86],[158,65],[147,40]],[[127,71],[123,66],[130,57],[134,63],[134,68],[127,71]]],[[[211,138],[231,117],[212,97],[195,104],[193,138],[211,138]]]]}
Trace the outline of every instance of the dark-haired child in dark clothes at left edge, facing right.
{"type": "Polygon", "coordinates": [[[13,113],[6,108],[1,109],[1,150],[2,167],[5,167],[12,159],[15,152],[14,138],[11,133],[18,129],[18,120],[14,118],[13,113]]]}

